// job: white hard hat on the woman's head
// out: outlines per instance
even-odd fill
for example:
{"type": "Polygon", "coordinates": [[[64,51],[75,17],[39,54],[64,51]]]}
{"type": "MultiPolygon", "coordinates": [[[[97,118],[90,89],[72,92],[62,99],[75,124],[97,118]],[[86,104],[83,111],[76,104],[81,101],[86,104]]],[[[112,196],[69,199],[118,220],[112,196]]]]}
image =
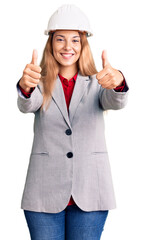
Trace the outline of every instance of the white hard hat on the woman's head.
{"type": "Polygon", "coordinates": [[[45,34],[49,35],[55,30],[79,30],[92,36],[92,30],[86,15],[75,5],[65,4],[61,6],[49,19],[45,34]]]}

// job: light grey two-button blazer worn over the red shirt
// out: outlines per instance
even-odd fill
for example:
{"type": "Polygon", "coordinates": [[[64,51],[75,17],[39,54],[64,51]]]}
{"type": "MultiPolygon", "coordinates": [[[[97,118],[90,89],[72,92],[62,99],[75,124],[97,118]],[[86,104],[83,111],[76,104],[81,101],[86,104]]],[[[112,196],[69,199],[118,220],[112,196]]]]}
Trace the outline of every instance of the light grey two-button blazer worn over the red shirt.
{"type": "Polygon", "coordinates": [[[47,111],[36,87],[30,98],[18,93],[18,108],[35,114],[34,139],[21,208],[58,213],[71,195],[84,211],[116,207],[104,136],[103,111],[121,109],[127,92],[103,89],[94,76],[78,74],[69,114],[59,77],[47,111]]]}

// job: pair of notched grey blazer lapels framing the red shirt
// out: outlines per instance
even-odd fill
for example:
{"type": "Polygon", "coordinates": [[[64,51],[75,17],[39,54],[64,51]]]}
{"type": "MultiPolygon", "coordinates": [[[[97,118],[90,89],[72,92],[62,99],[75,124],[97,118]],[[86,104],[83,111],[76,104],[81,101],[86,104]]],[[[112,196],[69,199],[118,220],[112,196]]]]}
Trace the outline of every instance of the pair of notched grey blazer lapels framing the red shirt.
{"type": "Polygon", "coordinates": [[[56,79],[56,85],[55,85],[54,91],[52,93],[52,97],[53,97],[54,101],[56,102],[59,110],[61,111],[61,113],[64,117],[64,120],[66,121],[66,123],[68,124],[68,126],[70,128],[72,128],[71,123],[73,121],[75,111],[76,111],[77,106],[86,90],[89,80],[90,80],[90,78],[88,76],[82,76],[82,75],[80,75],[80,73],[78,73],[76,83],[74,86],[74,90],[73,90],[73,94],[71,97],[70,105],[69,105],[69,115],[68,115],[64,91],[63,91],[59,76],[56,79]]]}

